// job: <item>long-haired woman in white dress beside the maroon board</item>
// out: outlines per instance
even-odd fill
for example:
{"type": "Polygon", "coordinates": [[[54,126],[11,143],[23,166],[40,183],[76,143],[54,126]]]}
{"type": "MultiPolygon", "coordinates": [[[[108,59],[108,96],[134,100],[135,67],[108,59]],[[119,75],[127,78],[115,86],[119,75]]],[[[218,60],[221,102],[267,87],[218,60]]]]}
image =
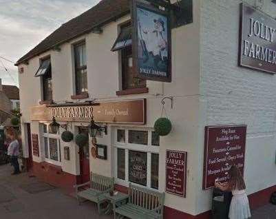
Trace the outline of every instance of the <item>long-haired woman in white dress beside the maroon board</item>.
{"type": "Polygon", "coordinates": [[[223,191],[232,191],[229,218],[230,219],[247,219],[251,218],[248,198],[246,196],[246,186],[240,169],[236,166],[230,169],[230,180],[227,183],[215,183],[215,186],[223,191]]]}

